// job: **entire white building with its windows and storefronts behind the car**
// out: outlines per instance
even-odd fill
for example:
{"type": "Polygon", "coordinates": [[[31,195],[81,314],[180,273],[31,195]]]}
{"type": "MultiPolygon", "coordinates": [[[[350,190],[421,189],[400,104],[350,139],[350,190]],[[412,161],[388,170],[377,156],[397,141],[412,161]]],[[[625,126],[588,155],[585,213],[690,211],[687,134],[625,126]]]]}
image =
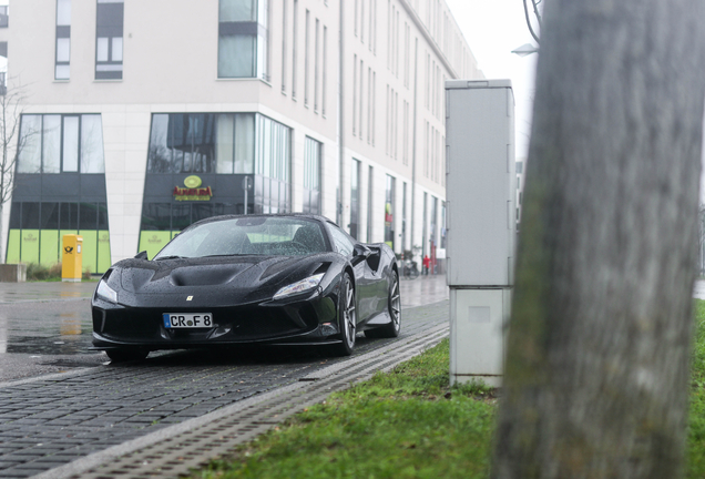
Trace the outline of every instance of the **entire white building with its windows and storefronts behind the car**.
{"type": "Polygon", "coordinates": [[[24,96],[8,263],[54,264],[78,233],[103,273],[245,212],[318,213],[443,257],[443,84],[482,73],[442,0],[12,0],[8,13],[8,92],[24,96]]]}

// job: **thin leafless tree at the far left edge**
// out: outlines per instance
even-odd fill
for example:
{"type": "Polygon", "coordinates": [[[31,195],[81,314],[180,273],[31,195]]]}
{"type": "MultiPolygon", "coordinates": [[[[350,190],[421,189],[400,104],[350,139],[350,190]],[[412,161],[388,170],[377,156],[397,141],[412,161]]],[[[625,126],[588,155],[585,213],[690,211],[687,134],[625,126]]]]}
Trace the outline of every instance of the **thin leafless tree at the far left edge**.
{"type": "MultiPolygon", "coordinates": [[[[12,197],[16,187],[14,171],[20,152],[28,140],[37,132],[20,135],[20,116],[24,103],[24,90],[21,86],[7,89],[2,85],[0,95],[0,232],[6,203],[12,197]]],[[[4,263],[4,242],[0,242],[0,264],[4,263]]]]}

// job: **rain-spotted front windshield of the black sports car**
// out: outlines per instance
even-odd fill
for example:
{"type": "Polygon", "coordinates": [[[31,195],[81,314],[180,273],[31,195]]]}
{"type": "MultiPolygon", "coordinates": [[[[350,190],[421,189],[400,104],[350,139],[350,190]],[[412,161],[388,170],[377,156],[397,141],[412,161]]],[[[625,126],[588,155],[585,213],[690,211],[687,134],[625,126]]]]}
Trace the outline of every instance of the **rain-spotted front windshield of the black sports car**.
{"type": "Polygon", "coordinates": [[[154,259],[232,255],[303,256],[326,252],[317,222],[292,217],[246,216],[188,228],[154,259]]]}

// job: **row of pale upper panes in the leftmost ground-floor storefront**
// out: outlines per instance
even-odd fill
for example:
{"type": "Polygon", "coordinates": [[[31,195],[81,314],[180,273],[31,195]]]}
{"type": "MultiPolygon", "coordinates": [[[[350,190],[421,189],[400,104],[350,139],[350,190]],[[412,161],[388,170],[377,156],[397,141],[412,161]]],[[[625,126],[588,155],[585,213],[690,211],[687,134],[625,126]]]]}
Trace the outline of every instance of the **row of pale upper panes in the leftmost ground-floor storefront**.
{"type": "Polygon", "coordinates": [[[105,173],[99,114],[23,114],[18,173],[105,173]]]}

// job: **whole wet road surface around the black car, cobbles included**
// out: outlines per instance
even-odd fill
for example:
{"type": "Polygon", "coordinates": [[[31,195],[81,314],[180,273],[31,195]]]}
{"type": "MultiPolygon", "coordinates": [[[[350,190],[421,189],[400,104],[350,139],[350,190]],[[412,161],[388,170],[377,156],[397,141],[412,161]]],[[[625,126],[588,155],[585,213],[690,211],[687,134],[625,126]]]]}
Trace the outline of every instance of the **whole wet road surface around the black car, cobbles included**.
{"type": "MultiPolygon", "coordinates": [[[[94,286],[0,287],[2,478],[31,477],[346,360],[268,348],[157,351],[113,365],[88,350],[94,286]],[[52,287],[61,293],[54,299],[52,287]]],[[[448,322],[445,278],[402,281],[401,294],[400,338],[448,322]]],[[[359,335],[355,355],[391,342],[359,335]]]]}

